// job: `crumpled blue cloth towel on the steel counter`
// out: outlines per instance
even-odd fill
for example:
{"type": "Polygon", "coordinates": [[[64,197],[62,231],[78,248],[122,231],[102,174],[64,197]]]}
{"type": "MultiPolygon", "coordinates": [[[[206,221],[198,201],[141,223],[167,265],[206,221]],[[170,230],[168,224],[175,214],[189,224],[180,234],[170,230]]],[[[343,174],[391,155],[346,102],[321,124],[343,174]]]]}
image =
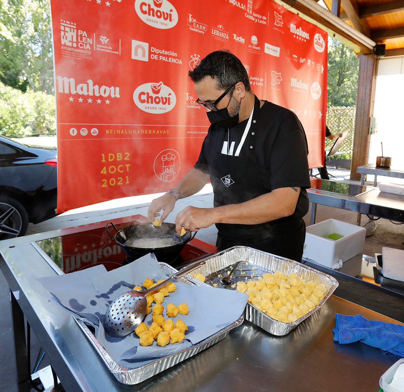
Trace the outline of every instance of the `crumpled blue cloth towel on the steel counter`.
{"type": "Polygon", "coordinates": [[[335,314],[335,342],[346,344],[362,342],[404,357],[404,325],[365,319],[360,314],[335,314]]]}

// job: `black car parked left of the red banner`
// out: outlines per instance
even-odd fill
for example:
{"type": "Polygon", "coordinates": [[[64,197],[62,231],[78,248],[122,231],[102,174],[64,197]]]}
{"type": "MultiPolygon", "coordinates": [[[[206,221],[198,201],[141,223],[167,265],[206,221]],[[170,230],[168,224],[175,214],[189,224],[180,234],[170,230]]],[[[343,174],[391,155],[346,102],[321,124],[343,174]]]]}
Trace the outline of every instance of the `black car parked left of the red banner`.
{"type": "Polygon", "coordinates": [[[0,240],[24,235],[28,222],[56,216],[56,201],[56,147],[0,136],[0,240]]]}

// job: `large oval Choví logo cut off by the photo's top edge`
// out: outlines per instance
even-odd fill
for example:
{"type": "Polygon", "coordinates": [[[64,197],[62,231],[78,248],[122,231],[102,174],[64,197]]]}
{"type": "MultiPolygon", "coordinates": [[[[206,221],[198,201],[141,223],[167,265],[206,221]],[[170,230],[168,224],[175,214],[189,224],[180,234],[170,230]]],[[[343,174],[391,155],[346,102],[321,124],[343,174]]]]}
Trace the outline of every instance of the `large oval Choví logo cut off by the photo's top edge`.
{"type": "Polygon", "coordinates": [[[136,0],[135,10],[139,18],[157,29],[170,29],[178,22],[178,13],[167,0],[136,0]]]}

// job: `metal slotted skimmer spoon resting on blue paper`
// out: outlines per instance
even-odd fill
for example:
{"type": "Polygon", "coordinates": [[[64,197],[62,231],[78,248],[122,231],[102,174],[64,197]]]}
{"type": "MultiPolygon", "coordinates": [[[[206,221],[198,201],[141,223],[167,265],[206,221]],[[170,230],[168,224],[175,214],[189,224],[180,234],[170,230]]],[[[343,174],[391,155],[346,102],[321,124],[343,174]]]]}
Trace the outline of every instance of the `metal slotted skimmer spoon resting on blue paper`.
{"type": "Polygon", "coordinates": [[[168,282],[180,278],[203,264],[206,264],[203,260],[194,262],[148,290],[132,290],[116,298],[105,312],[105,332],[113,337],[124,337],[135,331],[146,315],[146,294],[156,291],[168,282]]]}

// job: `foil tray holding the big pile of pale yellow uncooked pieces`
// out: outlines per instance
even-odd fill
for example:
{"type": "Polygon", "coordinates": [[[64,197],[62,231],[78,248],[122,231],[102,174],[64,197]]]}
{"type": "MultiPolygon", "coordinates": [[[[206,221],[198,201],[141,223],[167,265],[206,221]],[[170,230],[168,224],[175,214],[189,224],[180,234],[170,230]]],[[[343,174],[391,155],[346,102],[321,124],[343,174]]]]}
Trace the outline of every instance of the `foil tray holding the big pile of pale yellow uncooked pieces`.
{"type": "Polygon", "coordinates": [[[231,279],[234,282],[245,282],[246,277],[248,277],[248,280],[257,279],[264,273],[274,273],[276,270],[280,270],[280,272],[285,275],[289,275],[293,272],[305,281],[312,281],[316,284],[322,283],[326,287],[327,292],[320,303],[314,309],[310,310],[310,312],[292,323],[283,323],[275,320],[248,302],[244,309],[244,318],[273,335],[283,336],[292,331],[292,329],[295,329],[302,321],[310,317],[316,310],[320,309],[338,287],[337,279],[331,275],[304,264],[246,246],[235,246],[204,260],[206,264],[194,270],[191,275],[200,273],[206,277],[205,282],[202,283],[193,277],[188,278],[190,281],[199,285],[207,284],[214,287],[236,290],[236,285],[223,286],[220,283],[220,279],[223,276],[229,275],[231,265],[240,261],[237,270],[231,275],[231,279]]]}

